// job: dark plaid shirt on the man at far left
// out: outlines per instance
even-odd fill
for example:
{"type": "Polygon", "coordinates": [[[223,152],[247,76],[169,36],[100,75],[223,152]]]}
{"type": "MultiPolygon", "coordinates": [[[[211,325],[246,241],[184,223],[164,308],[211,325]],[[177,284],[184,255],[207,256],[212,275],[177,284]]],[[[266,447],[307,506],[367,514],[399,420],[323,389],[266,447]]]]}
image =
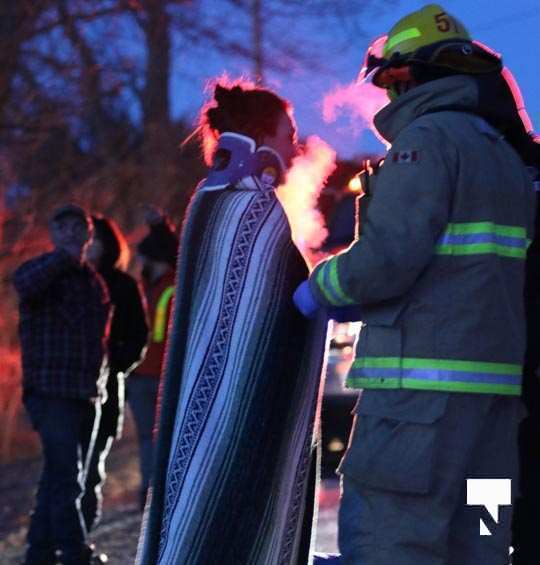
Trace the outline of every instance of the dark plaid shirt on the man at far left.
{"type": "Polygon", "coordinates": [[[110,304],[101,277],[61,250],[21,265],[14,276],[20,297],[23,388],[60,398],[95,398],[107,372],[110,304]]]}

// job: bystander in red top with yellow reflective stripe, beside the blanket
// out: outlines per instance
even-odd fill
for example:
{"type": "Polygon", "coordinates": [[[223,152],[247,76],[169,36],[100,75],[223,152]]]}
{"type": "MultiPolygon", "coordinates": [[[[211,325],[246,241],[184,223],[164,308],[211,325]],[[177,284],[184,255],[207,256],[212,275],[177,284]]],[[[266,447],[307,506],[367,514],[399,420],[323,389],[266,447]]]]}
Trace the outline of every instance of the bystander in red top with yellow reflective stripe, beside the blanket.
{"type": "Polygon", "coordinates": [[[133,372],[128,382],[128,402],[133,412],[139,438],[141,510],[144,508],[152,476],[153,430],[174,293],[178,249],[178,236],[173,224],[166,216],[149,207],[146,210],[145,220],[149,233],[137,246],[137,257],[142,264],[150,335],[144,360],[133,372]]]}

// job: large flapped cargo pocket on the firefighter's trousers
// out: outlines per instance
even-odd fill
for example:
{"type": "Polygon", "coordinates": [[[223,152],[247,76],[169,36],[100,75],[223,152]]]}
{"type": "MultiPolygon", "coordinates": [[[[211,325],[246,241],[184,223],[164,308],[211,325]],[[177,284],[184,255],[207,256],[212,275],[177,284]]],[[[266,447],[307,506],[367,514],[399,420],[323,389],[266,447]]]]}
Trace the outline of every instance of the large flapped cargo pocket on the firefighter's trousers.
{"type": "Polygon", "coordinates": [[[364,391],[339,471],[368,488],[426,494],[447,401],[424,391],[364,391]]]}

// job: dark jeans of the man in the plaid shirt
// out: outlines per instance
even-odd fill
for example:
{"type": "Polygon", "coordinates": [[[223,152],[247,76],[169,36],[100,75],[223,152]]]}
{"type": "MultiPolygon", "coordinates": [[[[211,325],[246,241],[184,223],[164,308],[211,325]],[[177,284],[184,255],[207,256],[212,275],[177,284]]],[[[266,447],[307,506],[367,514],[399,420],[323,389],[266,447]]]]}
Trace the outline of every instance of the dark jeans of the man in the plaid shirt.
{"type": "Polygon", "coordinates": [[[91,552],[80,511],[85,478],[83,446],[91,443],[99,407],[90,400],[34,394],[26,395],[24,403],[43,450],[26,563],[54,563],[55,551],[60,550],[65,565],[84,565],[91,552]]]}

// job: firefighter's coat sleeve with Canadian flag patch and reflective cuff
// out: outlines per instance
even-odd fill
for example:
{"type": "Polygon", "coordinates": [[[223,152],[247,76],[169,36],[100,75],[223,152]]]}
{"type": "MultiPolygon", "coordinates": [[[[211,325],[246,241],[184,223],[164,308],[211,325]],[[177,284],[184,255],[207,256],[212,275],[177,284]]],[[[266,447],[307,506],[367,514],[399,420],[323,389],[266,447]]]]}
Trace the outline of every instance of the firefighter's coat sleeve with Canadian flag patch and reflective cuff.
{"type": "Polygon", "coordinates": [[[448,222],[456,163],[451,144],[422,119],[398,136],[379,172],[362,236],[310,277],[319,303],[367,305],[411,288],[448,222]]]}

